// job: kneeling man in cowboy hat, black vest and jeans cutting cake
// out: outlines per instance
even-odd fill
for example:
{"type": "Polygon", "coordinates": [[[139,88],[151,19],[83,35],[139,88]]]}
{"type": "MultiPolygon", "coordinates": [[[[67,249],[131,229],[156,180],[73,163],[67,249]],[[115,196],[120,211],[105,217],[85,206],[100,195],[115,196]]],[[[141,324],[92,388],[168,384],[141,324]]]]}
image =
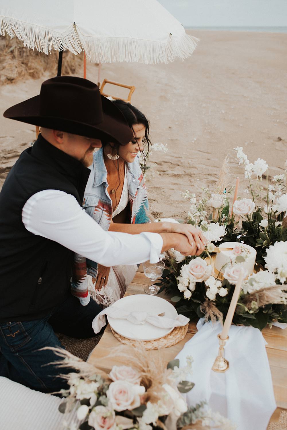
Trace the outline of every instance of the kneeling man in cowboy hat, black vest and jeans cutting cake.
{"type": "Polygon", "coordinates": [[[6,118],[42,134],[12,167],[0,193],[0,375],[43,392],[65,387],[51,350],[55,332],[94,335],[101,308],[70,294],[73,253],[105,266],[138,264],[171,247],[199,254],[177,233],[109,233],[82,209],[100,140],[127,144],[132,132],[96,84],[77,77],[46,80],[40,95],[10,107],[6,118]]]}

